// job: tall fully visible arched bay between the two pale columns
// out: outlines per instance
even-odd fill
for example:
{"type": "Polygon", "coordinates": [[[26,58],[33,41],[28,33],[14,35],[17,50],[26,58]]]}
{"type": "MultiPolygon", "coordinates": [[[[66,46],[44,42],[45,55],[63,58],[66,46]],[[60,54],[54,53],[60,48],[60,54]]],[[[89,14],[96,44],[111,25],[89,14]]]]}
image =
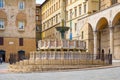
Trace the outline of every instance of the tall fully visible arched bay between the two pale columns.
{"type": "Polygon", "coordinates": [[[104,54],[109,53],[110,48],[110,37],[109,37],[109,26],[106,18],[101,18],[96,27],[97,31],[97,53],[98,58],[104,50],[104,54]]]}

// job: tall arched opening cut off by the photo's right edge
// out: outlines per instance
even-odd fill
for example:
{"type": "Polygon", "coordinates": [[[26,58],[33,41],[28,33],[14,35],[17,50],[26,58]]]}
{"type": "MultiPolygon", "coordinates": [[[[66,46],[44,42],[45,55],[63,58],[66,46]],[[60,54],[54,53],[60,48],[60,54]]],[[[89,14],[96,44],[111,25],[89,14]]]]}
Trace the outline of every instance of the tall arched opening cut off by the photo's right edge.
{"type": "Polygon", "coordinates": [[[120,12],[117,13],[112,21],[114,34],[114,59],[120,59],[120,12]]]}

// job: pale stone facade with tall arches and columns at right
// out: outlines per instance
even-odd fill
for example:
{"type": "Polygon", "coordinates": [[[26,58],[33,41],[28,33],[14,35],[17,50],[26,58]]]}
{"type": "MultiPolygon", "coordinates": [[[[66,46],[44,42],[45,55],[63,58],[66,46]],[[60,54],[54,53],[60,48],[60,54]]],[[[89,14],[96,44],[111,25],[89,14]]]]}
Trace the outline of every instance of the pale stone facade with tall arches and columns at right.
{"type": "Polygon", "coordinates": [[[120,3],[117,0],[114,4],[110,4],[109,7],[101,8],[99,12],[79,19],[77,33],[88,37],[88,52],[96,55],[109,53],[113,55],[113,59],[120,59],[119,26],[120,3]],[[87,35],[82,33],[85,28],[88,30],[86,30],[87,35]]]}

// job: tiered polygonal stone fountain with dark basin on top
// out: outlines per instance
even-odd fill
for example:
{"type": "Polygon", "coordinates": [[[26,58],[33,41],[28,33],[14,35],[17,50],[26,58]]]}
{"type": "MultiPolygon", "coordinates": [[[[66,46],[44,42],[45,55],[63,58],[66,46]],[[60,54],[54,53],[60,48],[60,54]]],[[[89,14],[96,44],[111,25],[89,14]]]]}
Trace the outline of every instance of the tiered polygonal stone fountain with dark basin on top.
{"type": "MultiPolygon", "coordinates": [[[[56,27],[61,39],[40,40],[38,50],[30,52],[28,60],[22,60],[9,65],[11,72],[38,72],[49,70],[78,69],[85,64],[98,64],[102,61],[93,61],[92,55],[86,54],[86,43],[80,40],[66,40],[65,32],[65,3],[61,1],[61,26],[56,27]],[[87,58],[89,58],[87,60],[87,58]],[[87,62],[87,63],[86,63],[87,62]],[[89,63],[88,63],[89,62],[89,63]]],[[[32,44],[31,44],[32,45],[32,44]]]]}

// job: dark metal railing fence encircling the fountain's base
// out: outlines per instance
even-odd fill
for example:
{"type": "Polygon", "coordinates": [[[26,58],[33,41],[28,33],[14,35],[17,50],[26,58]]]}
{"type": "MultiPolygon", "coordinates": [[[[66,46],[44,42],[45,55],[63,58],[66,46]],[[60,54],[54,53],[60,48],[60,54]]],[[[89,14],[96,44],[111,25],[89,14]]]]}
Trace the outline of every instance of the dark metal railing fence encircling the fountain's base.
{"type": "Polygon", "coordinates": [[[34,64],[39,65],[111,65],[112,54],[37,52],[30,54],[30,58],[23,56],[21,60],[18,55],[11,54],[9,62],[12,64],[22,60],[29,60],[29,64],[34,60],[34,64]]]}

